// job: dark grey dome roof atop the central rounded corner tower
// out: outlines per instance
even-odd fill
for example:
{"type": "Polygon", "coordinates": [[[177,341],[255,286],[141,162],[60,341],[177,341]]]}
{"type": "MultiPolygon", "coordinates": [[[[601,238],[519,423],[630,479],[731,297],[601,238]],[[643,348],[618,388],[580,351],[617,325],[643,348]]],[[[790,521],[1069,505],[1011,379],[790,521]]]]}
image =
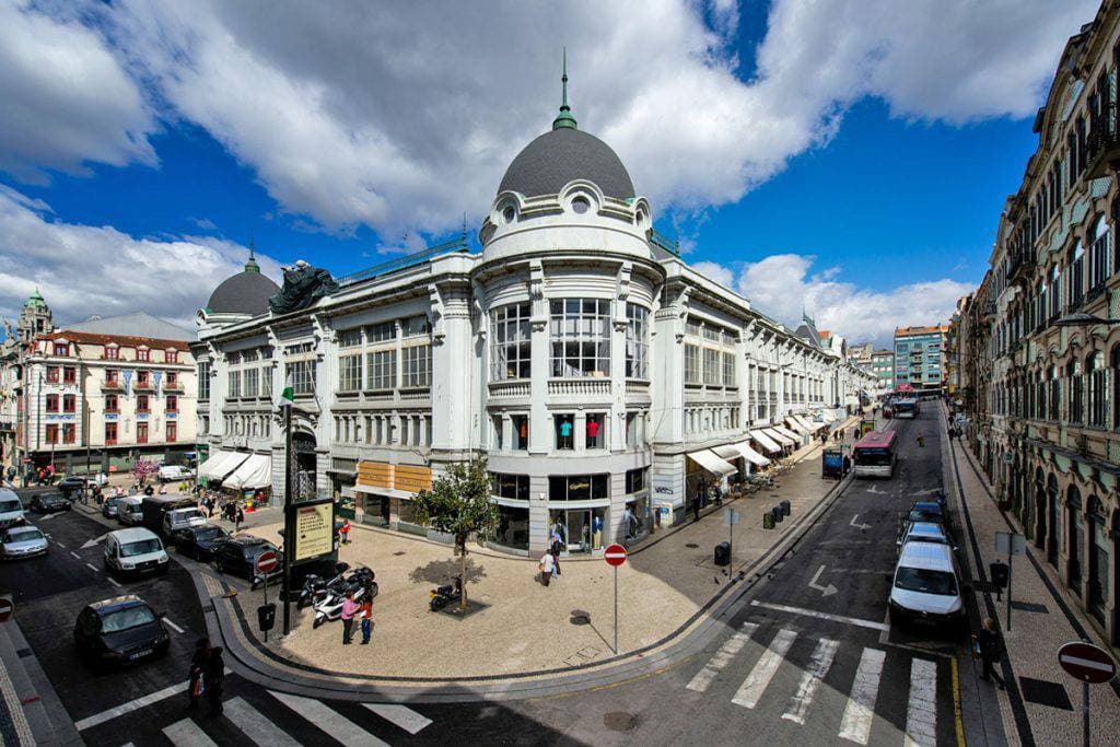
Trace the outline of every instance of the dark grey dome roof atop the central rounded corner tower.
{"type": "Polygon", "coordinates": [[[556,195],[573,179],[594,181],[610,197],[634,197],[634,183],[610,146],[575,127],[550,130],[525,146],[497,190],[556,195]]]}

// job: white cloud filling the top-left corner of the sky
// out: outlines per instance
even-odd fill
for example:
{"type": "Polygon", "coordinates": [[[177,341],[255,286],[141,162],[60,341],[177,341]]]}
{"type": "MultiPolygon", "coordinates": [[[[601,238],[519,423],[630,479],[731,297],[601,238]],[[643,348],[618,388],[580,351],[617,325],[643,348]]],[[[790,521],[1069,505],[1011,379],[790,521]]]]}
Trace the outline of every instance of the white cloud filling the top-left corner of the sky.
{"type": "Polygon", "coordinates": [[[44,183],[44,169],[86,174],[87,161],[155,164],[155,128],[96,32],[0,0],[0,171],[44,183]]]}

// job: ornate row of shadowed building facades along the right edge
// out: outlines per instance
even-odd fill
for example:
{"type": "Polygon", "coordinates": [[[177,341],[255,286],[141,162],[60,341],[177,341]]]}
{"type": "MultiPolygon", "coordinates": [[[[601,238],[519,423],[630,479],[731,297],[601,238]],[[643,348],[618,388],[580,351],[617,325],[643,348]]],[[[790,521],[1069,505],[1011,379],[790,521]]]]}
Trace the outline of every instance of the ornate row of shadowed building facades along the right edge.
{"type": "Polygon", "coordinates": [[[1120,9],[1063,53],[1038,149],[961,314],[970,447],[1067,597],[1113,644],[1120,576],[1120,9]],[[1088,315],[1088,316],[1081,316],[1088,315]],[[1098,323],[1093,323],[1096,319],[1098,323]]]}

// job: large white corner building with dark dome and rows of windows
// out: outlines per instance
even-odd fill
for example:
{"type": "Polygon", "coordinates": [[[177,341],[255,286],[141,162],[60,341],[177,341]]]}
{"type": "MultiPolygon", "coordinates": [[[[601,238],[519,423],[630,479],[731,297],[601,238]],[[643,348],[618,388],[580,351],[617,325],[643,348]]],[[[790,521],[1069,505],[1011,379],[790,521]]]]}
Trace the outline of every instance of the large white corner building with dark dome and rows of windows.
{"type": "Polygon", "coordinates": [[[870,381],[690,268],[567,106],[478,239],[339,278],[304,311],[270,310],[277,286],[250,265],[215,290],[194,345],[203,476],[251,487],[236,475],[256,460],[283,498],[287,383],[301,494],[428,533],[411,497],[485,455],[492,544],[540,552],[562,525],[569,552],[600,552],[803,442],[870,381]]]}

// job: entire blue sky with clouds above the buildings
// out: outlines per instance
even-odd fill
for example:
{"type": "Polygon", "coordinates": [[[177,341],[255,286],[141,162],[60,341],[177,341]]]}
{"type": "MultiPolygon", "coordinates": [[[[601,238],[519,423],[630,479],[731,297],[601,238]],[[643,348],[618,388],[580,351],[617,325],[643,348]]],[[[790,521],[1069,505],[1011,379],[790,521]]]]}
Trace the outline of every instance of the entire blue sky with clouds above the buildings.
{"type": "Polygon", "coordinates": [[[475,234],[572,113],[709,277],[849,340],[983,277],[1088,0],[0,0],[0,316],[190,325],[240,271],[475,234]]]}

